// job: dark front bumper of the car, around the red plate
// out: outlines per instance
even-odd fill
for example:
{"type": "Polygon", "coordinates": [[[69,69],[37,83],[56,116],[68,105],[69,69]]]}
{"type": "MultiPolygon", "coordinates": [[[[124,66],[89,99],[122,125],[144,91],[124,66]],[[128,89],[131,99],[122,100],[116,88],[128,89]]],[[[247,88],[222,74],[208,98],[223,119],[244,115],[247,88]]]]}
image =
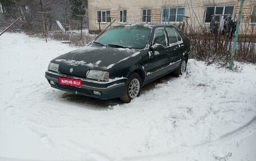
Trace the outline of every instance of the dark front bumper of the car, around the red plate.
{"type": "Polygon", "coordinates": [[[46,71],[45,78],[53,88],[67,91],[73,94],[86,95],[103,100],[121,97],[124,94],[125,82],[127,81],[127,78],[124,77],[118,79],[110,79],[106,82],[94,81],[52,71],[46,71]],[[72,86],[60,85],[59,77],[82,80],[82,86],[81,88],[76,88],[72,86]],[[54,84],[52,84],[51,81],[53,81],[54,84]],[[100,95],[95,95],[94,91],[98,91],[100,95]]]}

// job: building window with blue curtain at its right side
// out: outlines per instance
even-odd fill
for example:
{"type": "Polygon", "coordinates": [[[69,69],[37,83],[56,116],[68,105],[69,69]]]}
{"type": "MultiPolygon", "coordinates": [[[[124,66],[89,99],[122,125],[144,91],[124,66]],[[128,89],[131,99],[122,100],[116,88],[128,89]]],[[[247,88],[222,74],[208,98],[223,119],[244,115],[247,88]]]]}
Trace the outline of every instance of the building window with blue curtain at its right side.
{"type": "Polygon", "coordinates": [[[162,22],[183,22],[185,8],[163,8],[162,22]]]}

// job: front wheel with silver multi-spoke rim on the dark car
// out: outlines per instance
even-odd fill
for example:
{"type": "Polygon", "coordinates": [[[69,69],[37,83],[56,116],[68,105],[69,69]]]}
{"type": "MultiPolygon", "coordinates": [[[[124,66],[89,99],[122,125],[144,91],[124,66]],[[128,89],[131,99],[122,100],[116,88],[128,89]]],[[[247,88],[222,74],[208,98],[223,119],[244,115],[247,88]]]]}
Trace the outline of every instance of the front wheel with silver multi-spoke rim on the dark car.
{"type": "Polygon", "coordinates": [[[140,75],[138,73],[132,73],[127,79],[125,93],[120,99],[125,103],[131,102],[132,99],[140,95],[141,86],[140,75]]]}

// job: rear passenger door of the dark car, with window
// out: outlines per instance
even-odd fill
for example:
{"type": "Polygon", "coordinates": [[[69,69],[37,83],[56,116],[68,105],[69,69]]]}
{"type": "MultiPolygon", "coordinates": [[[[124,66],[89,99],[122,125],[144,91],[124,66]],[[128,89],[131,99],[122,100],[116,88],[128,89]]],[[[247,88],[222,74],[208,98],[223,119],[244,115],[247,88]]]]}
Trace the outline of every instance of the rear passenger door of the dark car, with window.
{"type": "Polygon", "coordinates": [[[182,38],[176,29],[172,26],[166,26],[168,34],[167,52],[170,54],[171,70],[179,67],[182,58],[182,47],[184,46],[182,38]]]}

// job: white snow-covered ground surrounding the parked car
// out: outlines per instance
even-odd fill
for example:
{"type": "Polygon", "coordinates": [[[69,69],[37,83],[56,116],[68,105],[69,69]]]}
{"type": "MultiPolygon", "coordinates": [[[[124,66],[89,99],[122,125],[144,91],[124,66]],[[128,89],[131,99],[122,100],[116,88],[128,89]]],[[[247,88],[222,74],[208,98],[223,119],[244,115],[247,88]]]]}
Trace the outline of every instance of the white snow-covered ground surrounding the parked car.
{"type": "Polygon", "coordinates": [[[0,36],[0,160],[256,160],[256,66],[190,59],[129,104],[53,89],[67,44],[0,36]]]}

